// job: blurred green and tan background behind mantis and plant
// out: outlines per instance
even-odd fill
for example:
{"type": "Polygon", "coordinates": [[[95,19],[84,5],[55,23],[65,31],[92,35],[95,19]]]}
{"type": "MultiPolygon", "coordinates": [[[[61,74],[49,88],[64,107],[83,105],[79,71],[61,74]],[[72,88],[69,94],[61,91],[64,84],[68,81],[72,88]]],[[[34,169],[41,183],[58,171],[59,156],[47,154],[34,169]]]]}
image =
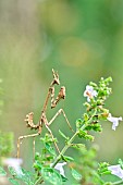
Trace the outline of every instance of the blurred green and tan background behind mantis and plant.
{"type": "MultiPolygon", "coordinates": [[[[59,72],[66,99],[54,110],[48,109],[49,120],[63,108],[75,128],[75,120],[85,111],[85,86],[101,76],[113,78],[113,94],[106,107],[113,115],[123,116],[123,0],[0,1],[0,78],[4,89],[0,128],[14,133],[13,156],[17,137],[30,133],[25,115],[33,111],[38,122],[51,69],[59,72]]],[[[62,115],[56,120],[51,126],[56,136],[59,126],[70,134],[65,124],[62,115]]],[[[100,146],[98,160],[123,160],[122,123],[116,132],[110,123],[102,127],[103,133],[95,138],[100,146]]],[[[21,150],[28,165],[32,140],[24,140],[21,150]]]]}

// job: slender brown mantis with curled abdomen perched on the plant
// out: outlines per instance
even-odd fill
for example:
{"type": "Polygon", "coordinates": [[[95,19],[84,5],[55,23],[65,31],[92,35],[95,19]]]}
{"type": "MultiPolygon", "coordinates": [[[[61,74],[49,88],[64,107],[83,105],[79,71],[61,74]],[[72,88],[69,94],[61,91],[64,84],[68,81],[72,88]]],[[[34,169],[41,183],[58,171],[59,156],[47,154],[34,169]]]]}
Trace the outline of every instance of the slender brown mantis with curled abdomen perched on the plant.
{"type": "MultiPolygon", "coordinates": [[[[50,87],[49,87],[49,90],[48,90],[48,95],[47,95],[47,98],[46,98],[46,101],[44,103],[44,107],[42,107],[42,111],[41,111],[41,115],[40,115],[40,119],[39,119],[39,122],[37,124],[34,124],[33,122],[33,116],[34,116],[34,113],[30,112],[26,115],[26,119],[25,119],[25,122],[27,124],[27,127],[30,127],[30,130],[38,130],[38,133],[36,134],[30,134],[30,135],[24,135],[24,136],[20,136],[19,139],[17,139],[17,158],[20,158],[20,145],[21,145],[21,140],[24,139],[24,138],[28,138],[28,137],[33,137],[34,138],[34,141],[33,141],[33,150],[34,150],[34,155],[35,155],[35,137],[40,135],[41,134],[41,130],[42,130],[42,126],[45,125],[46,128],[48,130],[48,132],[50,133],[52,139],[53,139],[53,135],[52,135],[52,132],[51,130],[49,128],[49,125],[57,119],[57,116],[59,114],[63,114],[63,116],[65,118],[65,121],[70,127],[70,130],[72,132],[74,132],[69,123],[69,120],[63,111],[63,109],[60,109],[56,115],[48,122],[47,120],[47,116],[46,116],[46,111],[47,111],[47,104],[48,104],[48,101],[49,101],[49,98],[51,96],[51,108],[56,108],[56,106],[58,104],[58,102],[61,100],[61,99],[65,99],[65,87],[62,86],[57,98],[54,99],[54,85],[60,85],[60,81],[59,81],[59,75],[58,73],[56,73],[53,70],[52,70],[52,74],[53,74],[53,81],[51,82],[50,84],[50,87]]],[[[58,150],[58,152],[60,152],[59,150],[59,147],[57,145],[57,143],[54,141],[54,146],[58,150]]]]}

